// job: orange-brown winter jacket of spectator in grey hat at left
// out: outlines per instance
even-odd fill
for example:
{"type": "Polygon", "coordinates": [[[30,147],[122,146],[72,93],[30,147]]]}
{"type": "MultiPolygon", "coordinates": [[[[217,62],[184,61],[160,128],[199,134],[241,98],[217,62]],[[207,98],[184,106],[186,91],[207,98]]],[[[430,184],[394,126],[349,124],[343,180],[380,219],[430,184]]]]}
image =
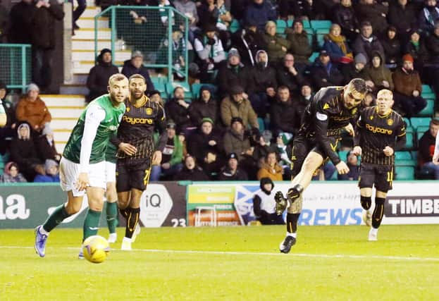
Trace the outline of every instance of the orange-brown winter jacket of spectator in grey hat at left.
{"type": "Polygon", "coordinates": [[[49,123],[52,120],[52,116],[47,109],[46,104],[37,97],[35,101],[31,102],[27,96],[20,99],[16,109],[17,121],[26,121],[32,128],[38,125],[39,128],[43,128],[45,123],[49,123]]]}

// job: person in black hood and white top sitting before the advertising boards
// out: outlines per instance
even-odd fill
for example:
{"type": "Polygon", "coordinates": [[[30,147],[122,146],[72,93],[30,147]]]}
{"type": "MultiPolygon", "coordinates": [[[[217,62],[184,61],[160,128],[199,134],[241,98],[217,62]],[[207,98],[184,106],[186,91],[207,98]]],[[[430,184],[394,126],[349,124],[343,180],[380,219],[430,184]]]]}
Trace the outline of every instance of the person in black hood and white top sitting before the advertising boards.
{"type": "Polygon", "coordinates": [[[276,202],[271,191],[274,183],[271,178],[261,178],[259,181],[261,190],[253,197],[253,211],[256,219],[263,225],[285,225],[282,215],[276,214],[276,202]]]}

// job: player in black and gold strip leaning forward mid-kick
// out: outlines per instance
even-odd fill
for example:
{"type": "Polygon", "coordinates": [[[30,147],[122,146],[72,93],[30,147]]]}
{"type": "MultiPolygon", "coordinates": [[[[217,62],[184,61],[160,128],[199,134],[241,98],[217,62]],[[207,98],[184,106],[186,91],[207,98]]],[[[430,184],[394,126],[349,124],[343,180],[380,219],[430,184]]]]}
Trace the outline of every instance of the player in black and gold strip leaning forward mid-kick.
{"type": "Polygon", "coordinates": [[[350,121],[357,117],[358,106],[365,94],[366,82],[354,78],[345,87],[325,87],[319,90],[305,109],[302,126],[292,148],[292,188],[288,190],[287,197],[280,191],[275,195],[276,213],[282,214],[287,208],[287,236],[280,244],[280,252],[290,252],[296,242],[297,221],[302,211],[302,192],[311,182],[314,171],[326,159],[330,159],[338,173],[349,172],[345,162],[338,157],[337,144],[343,129],[354,134],[350,121]]]}

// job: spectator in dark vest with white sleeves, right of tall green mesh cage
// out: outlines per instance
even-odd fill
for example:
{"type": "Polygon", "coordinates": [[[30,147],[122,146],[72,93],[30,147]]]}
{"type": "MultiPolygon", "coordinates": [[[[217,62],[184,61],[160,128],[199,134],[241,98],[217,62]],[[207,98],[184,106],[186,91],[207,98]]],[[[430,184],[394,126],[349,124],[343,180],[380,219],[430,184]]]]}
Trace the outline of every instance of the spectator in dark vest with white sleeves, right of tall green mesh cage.
{"type": "Polygon", "coordinates": [[[218,70],[218,63],[225,60],[225,53],[221,39],[216,36],[216,27],[212,24],[204,25],[204,34],[195,38],[194,49],[197,53],[197,63],[202,82],[211,81],[214,70],[218,70]]]}

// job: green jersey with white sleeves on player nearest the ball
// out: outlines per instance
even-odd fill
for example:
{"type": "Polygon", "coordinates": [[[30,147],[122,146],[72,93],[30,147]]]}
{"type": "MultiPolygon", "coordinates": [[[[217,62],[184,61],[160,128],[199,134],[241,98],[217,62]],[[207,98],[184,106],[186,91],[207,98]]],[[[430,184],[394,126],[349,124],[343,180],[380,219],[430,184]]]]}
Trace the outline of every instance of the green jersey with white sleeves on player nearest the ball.
{"type": "Polygon", "coordinates": [[[125,104],[120,104],[117,107],[113,106],[109,94],[102,95],[101,97],[98,97],[89,103],[89,105],[81,113],[78,123],[76,123],[75,127],[73,128],[63,152],[64,157],[78,164],[80,163],[81,140],[84,133],[85,116],[87,115],[87,110],[91,106],[98,106],[99,109],[104,110],[105,118],[99,124],[96,136],[93,140],[92,153],[90,154],[89,159],[90,164],[105,161],[105,151],[107,145],[109,144],[109,139],[111,135],[115,135],[116,131],[118,130],[120,119],[125,111],[125,104]]]}

